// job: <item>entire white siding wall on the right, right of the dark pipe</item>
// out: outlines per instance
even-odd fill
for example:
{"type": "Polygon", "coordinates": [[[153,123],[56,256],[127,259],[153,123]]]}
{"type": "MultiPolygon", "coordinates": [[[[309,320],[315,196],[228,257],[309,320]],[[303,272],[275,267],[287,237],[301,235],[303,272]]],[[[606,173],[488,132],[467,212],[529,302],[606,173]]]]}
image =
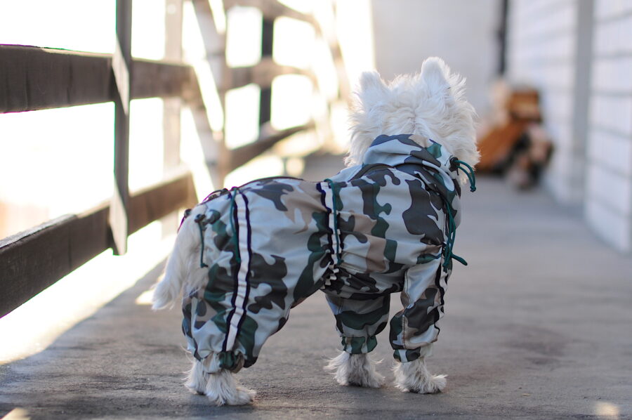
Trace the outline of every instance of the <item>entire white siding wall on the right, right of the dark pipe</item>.
{"type": "Polygon", "coordinates": [[[632,1],[511,0],[508,79],[541,91],[555,142],[546,184],[632,250],[632,1]]]}

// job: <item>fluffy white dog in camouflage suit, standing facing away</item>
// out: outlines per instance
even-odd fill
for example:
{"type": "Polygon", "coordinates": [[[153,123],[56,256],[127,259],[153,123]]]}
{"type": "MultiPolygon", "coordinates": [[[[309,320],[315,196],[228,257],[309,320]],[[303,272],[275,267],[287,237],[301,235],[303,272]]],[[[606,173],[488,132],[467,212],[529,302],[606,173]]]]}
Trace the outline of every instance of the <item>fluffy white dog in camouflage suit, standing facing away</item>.
{"type": "MultiPolygon", "coordinates": [[[[478,162],[464,81],[439,58],[384,84],[362,74],[348,168],[321,183],[267,178],[211,194],[187,213],[154,309],[183,294],[183,331],[195,357],[186,386],[216,405],[254,391],[233,373],[249,367],[289,310],[322,289],[343,352],[329,369],[342,385],[383,383],[368,353],[390,320],[395,384],[436,393],[445,376],[425,365],[439,332],[460,185],[478,162]]],[[[473,185],[471,185],[473,190],[473,185]]]]}

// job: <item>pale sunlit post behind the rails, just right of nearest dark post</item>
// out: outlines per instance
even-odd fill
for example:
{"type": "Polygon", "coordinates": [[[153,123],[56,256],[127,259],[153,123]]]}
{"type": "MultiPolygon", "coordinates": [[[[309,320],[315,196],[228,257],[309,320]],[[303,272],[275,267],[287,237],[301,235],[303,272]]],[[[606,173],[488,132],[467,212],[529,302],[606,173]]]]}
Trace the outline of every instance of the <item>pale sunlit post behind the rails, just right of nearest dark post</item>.
{"type": "MultiPolygon", "coordinates": [[[[183,0],[166,0],[164,15],[164,59],[182,60],[183,0]]],[[[165,98],[162,110],[163,169],[167,174],[180,165],[180,98],[165,98]]],[[[170,235],[178,227],[178,214],[162,218],[162,235],[170,235]]]]}

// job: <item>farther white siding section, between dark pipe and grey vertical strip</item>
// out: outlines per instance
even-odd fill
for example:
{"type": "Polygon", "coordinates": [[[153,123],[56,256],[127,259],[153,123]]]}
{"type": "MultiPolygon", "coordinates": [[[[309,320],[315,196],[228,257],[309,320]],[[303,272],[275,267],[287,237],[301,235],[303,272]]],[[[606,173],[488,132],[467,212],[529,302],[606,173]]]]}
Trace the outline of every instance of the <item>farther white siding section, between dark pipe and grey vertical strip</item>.
{"type": "Polygon", "coordinates": [[[573,135],[576,81],[575,0],[514,0],[508,15],[508,79],[534,86],[555,142],[546,184],[561,202],[579,204],[584,145],[573,135]]]}

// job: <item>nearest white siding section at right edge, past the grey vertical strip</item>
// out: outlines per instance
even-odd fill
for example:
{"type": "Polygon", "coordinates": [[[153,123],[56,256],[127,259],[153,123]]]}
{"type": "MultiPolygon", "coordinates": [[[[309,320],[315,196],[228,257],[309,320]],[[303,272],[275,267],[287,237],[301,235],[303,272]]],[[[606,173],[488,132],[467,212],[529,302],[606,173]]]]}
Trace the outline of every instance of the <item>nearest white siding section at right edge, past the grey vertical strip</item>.
{"type": "Polygon", "coordinates": [[[632,249],[632,1],[595,0],[586,218],[632,249]]]}

